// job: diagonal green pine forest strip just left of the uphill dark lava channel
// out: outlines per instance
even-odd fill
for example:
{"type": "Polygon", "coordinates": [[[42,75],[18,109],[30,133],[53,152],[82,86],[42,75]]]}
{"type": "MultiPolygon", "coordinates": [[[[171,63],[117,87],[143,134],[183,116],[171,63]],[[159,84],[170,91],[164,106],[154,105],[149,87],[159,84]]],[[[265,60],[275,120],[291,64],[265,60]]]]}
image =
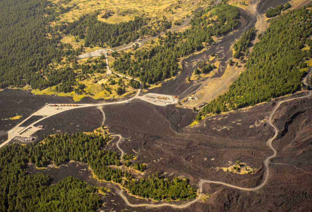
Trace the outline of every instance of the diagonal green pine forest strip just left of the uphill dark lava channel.
{"type": "Polygon", "coordinates": [[[214,42],[212,36],[225,35],[239,24],[240,12],[235,6],[219,4],[197,12],[191,19],[191,28],[184,32],[166,32],[158,36],[158,45],[150,49],[123,53],[114,61],[114,71],[139,77],[145,83],[155,83],[174,76],[178,71],[178,58],[194,50],[201,50],[214,42]],[[216,18],[215,18],[216,17],[216,18]],[[214,20],[215,18],[215,20],[214,20]]]}

